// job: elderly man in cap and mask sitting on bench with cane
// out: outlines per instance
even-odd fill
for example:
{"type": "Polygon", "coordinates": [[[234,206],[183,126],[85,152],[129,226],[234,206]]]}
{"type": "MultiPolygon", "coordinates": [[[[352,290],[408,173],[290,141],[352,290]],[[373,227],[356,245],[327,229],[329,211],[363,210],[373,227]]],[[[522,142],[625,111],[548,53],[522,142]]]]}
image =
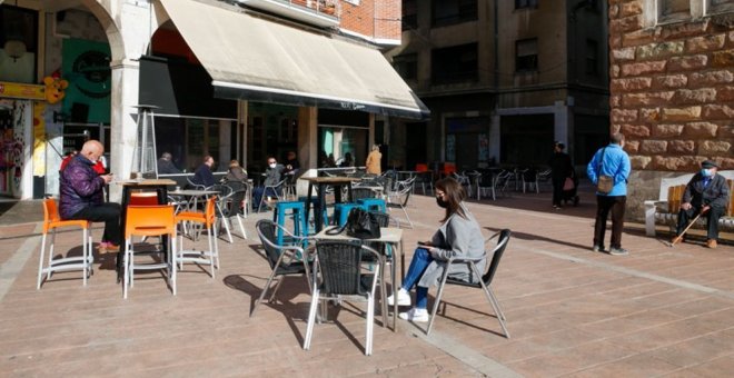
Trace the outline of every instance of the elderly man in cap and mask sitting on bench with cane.
{"type": "Polygon", "coordinates": [[[716,248],[718,218],[726,211],[730,196],[728,186],[723,176],[716,175],[718,166],[714,161],[705,160],[701,163],[701,171],[693,176],[685,187],[685,192],[683,192],[675,233],[678,238],[677,236],[683,232],[688,222],[698,213],[702,213],[706,217],[708,227],[706,246],[716,248]]]}

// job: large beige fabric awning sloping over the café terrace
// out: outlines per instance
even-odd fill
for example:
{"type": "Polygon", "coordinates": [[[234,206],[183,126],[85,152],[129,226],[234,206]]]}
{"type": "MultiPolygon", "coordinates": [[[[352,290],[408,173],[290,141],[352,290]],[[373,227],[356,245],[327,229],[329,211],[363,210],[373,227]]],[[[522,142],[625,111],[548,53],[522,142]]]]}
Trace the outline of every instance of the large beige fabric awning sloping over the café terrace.
{"type": "Polygon", "coordinates": [[[161,3],[211,76],[216,97],[417,119],[430,113],[376,49],[224,4],[161,3]]]}

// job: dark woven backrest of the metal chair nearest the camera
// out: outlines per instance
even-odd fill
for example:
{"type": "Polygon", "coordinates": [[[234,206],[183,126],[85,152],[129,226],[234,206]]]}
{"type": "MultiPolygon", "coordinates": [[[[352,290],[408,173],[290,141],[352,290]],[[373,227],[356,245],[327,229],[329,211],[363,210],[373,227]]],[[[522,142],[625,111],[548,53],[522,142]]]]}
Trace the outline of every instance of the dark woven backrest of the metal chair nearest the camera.
{"type": "Polygon", "coordinates": [[[361,246],[350,241],[318,241],[316,253],[326,295],[364,295],[361,246]]]}

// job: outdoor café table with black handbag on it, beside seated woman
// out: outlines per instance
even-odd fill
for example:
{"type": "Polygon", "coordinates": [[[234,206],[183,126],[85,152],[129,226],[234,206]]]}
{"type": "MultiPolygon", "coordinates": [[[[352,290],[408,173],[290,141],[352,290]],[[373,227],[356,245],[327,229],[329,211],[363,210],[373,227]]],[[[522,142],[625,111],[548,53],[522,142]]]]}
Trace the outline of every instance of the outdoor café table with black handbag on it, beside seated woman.
{"type": "MultiPolygon", "coordinates": [[[[403,229],[401,228],[396,228],[396,227],[380,227],[379,233],[380,237],[377,239],[357,239],[353,238],[350,236],[347,236],[346,232],[337,233],[337,235],[328,235],[326,233],[328,230],[337,228],[337,226],[330,226],[321,230],[320,232],[316,233],[314,236],[314,239],[316,240],[346,240],[346,241],[353,241],[353,240],[358,240],[358,241],[375,241],[375,242],[381,242],[381,243],[387,243],[393,246],[393,263],[390,265],[390,275],[393,276],[393,298],[395,298],[395,301],[393,302],[393,331],[397,332],[397,292],[399,289],[398,285],[398,279],[396,278],[397,273],[397,259],[395,258],[395,252],[400,250],[400,266],[405,268],[405,252],[403,250],[403,229]]],[[[387,296],[385,295],[385,263],[388,260],[388,256],[380,253],[380,271],[383,275],[383,285],[381,287],[381,292],[380,292],[380,298],[381,298],[381,310],[383,310],[383,325],[386,324],[385,321],[385,315],[387,314],[387,296]]],[[[314,278],[315,279],[315,278],[314,278]]]]}

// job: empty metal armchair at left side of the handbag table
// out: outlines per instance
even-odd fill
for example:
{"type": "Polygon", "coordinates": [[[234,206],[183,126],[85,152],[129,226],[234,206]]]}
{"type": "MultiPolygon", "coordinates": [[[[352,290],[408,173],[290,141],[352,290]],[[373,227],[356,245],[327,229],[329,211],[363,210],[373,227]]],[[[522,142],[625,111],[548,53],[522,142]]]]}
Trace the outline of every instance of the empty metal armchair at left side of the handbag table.
{"type": "MultiPolygon", "coordinates": [[[[262,242],[262,248],[265,249],[265,257],[268,260],[268,263],[270,263],[270,269],[272,271],[270,272],[268,281],[262,288],[262,292],[260,292],[260,297],[255,302],[255,306],[252,306],[250,317],[255,315],[255,311],[262,301],[262,298],[265,298],[265,295],[268,292],[268,290],[270,290],[270,285],[272,284],[272,280],[276,278],[276,276],[285,277],[292,275],[304,275],[306,276],[308,289],[309,291],[311,290],[311,278],[309,276],[310,262],[308,262],[308,257],[304,255],[304,249],[299,247],[301,243],[295,242],[291,246],[278,245],[276,241],[276,229],[280,229],[280,231],[288,235],[290,238],[292,238],[292,240],[304,238],[294,236],[287,229],[278,226],[269,219],[258,220],[255,225],[255,228],[257,229],[257,235],[260,237],[260,242],[262,242]]],[[[270,292],[268,302],[272,302],[275,295],[278,292],[282,281],[282,279],[279,279],[278,284],[276,284],[275,288],[272,288],[272,292],[270,292]]]]}

